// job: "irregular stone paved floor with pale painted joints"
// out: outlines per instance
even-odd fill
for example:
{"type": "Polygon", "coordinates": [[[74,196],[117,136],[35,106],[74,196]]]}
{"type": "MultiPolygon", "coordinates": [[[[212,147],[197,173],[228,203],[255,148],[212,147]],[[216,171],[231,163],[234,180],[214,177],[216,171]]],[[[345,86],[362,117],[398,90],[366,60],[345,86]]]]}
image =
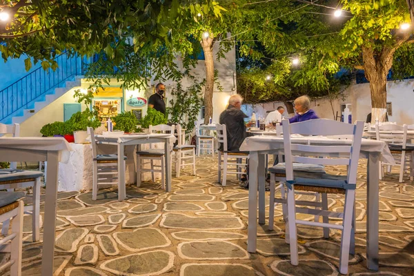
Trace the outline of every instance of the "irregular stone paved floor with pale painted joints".
{"type": "MultiPolygon", "coordinates": [[[[328,170],[344,172],[340,167],[328,170]]],[[[358,178],[357,254],[350,258],[349,271],[379,275],[366,269],[366,164],[359,166],[358,178]]],[[[399,184],[394,173],[380,186],[381,275],[414,275],[414,184],[409,179],[399,184]]],[[[258,253],[248,254],[248,191],[236,181],[219,186],[216,159],[197,158],[197,177],[184,170],[173,178],[172,193],[145,183],[129,186],[127,194],[128,200],[118,202],[113,189],[101,190],[97,201],[90,192],[59,193],[56,275],[338,274],[340,236],[335,230],[326,240],[322,229],[299,226],[299,266],[290,265],[280,208],[275,231],[259,226],[258,253]]],[[[30,195],[25,200],[30,203],[30,195]]],[[[329,195],[334,210],[343,202],[342,196],[329,195]]],[[[42,244],[30,242],[30,216],[25,221],[23,275],[40,275],[42,244]]]]}

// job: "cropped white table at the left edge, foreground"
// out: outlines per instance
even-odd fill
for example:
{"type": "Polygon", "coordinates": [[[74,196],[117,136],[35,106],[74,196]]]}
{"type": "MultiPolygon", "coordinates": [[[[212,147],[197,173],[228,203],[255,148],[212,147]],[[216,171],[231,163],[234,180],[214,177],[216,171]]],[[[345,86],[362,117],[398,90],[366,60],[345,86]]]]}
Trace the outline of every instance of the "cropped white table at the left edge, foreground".
{"type": "Polygon", "coordinates": [[[0,138],[0,161],[47,161],[41,275],[53,275],[59,161],[66,163],[70,146],[62,137],[0,138]]]}

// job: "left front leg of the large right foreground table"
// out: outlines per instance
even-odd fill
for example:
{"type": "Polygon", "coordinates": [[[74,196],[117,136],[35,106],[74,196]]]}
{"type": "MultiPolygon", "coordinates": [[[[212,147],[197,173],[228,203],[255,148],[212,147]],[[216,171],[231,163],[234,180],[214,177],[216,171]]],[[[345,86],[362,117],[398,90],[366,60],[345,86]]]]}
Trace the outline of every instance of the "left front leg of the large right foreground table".
{"type": "Polygon", "coordinates": [[[247,250],[256,252],[257,245],[257,167],[259,156],[257,152],[250,151],[248,179],[248,228],[247,250]]]}

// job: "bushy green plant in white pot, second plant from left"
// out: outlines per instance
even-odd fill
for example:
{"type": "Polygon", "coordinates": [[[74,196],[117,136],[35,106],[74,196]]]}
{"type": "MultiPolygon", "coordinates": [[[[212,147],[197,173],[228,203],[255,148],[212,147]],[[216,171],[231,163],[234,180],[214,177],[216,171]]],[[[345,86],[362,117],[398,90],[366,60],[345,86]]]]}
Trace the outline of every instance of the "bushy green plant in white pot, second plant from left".
{"type": "Polygon", "coordinates": [[[75,143],[84,143],[88,137],[86,131],[88,127],[98,128],[101,122],[95,117],[89,109],[82,112],[76,112],[68,121],[66,121],[66,135],[73,134],[75,143]]]}

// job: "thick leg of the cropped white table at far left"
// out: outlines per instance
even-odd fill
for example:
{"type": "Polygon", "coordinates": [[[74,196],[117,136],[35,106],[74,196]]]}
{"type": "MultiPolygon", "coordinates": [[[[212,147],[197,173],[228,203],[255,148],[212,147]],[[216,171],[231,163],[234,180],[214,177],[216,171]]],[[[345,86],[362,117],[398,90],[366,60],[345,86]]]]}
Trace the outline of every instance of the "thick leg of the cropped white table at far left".
{"type": "Polygon", "coordinates": [[[46,177],[45,214],[43,224],[43,254],[41,275],[53,275],[55,253],[55,229],[57,209],[57,175],[59,170],[59,152],[48,152],[48,171],[46,177]]]}

